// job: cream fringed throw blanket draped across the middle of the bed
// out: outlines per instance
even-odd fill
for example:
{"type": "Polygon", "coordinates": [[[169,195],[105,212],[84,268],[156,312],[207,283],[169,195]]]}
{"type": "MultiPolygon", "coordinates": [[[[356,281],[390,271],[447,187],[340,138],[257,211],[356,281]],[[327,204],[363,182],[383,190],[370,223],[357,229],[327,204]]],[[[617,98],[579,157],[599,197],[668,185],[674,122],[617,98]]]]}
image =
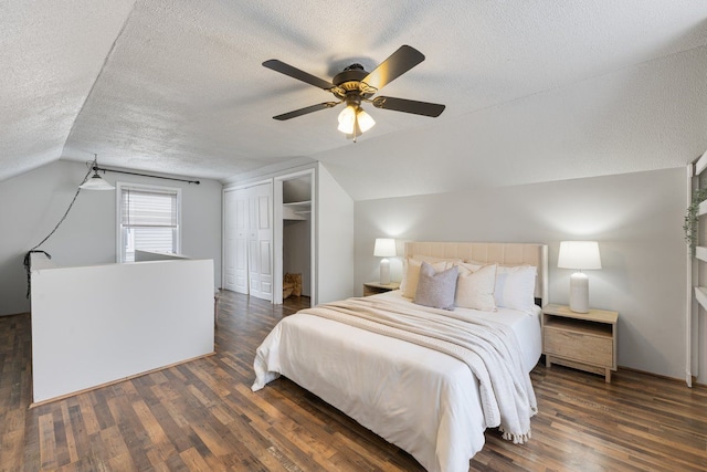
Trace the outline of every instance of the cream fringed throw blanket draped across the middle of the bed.
{"type": "Polygon", "coordinates": [[[376,298],[349,298],[302,311],[453,356],[479,381],[484,421],[503,438],[525,443],[537,402],[513,329],[455,312],[405,307],[376,298]]]}

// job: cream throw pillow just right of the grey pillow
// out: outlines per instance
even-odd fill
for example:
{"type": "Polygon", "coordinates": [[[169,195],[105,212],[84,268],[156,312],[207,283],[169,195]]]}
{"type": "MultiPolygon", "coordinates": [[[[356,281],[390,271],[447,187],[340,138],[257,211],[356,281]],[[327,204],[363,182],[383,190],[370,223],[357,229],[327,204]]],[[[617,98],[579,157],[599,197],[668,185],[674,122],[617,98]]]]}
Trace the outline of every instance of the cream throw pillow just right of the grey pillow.
{"type": "Polygon", "coordinates": [[[497,264],[483,265],[477,270],[469,270],[469,266],[458,264],[460,274],[456,279],[454,304],[464,308],[495,312],[494,289],[497,264]]]}

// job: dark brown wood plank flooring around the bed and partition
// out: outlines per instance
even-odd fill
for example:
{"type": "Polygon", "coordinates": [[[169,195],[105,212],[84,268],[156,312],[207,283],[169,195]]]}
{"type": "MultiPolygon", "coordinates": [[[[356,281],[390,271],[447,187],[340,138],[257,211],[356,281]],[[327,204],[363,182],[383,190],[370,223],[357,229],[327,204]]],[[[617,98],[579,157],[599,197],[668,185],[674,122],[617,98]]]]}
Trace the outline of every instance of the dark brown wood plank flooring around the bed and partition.
{"type": "MultiPolygon", "coordinates": [[[[0,471],[420,471],[404,451],[281,378],[255,348],[299,308],[224,292],[217,355],[33,409],[29,315],[0,317],[0,471]]],[[[66,366],[71,369],[72,366],[66,366]]],[[[473,471],[705,471],[707,388],[538,365],[532,439],[486,432],[473,471]]]]}

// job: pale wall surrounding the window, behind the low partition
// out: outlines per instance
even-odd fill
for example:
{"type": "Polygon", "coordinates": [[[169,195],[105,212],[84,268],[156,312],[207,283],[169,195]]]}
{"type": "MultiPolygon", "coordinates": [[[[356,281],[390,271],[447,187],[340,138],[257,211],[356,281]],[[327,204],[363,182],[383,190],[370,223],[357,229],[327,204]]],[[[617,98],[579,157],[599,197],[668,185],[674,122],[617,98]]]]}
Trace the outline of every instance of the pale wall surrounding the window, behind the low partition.
{"type": "MultiPolygon", "coordinates": [[[[64,214],[86,170],[84,164],[59,160],[0,181],[0,315],[30,311],[22,259],[64,214]]],[[[182,188],[181,252],[213,259],[214,281],[221,285],[220,182],[202,179],[196,186],[122,174],[106,174],[105,179],[182,188]]],[[[60,266],[115,262],[115,191],[82,191],[40,249],[60,266]]]]}

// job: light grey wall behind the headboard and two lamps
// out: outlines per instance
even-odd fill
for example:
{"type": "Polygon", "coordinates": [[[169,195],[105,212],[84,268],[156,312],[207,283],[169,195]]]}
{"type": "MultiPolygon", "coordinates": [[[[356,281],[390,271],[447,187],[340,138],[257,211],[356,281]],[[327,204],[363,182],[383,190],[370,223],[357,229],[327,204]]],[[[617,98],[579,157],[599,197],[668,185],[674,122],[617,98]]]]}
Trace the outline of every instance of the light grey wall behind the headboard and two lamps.
{"type": "MultiPolygon", "coordinates": [[[[358,201],[356,290],[378,279],[378,237],[542,242],[549,244],[550,301],[567,303],[571,271],[557,269],[559,242],[597,240],[603,269],[588,271],[590,305],[620,312],[619,365],[684,379],[685,193],[678,168],[358,201]]],[[[398,260],[398,280],[399,268],[398,260]]]]}

